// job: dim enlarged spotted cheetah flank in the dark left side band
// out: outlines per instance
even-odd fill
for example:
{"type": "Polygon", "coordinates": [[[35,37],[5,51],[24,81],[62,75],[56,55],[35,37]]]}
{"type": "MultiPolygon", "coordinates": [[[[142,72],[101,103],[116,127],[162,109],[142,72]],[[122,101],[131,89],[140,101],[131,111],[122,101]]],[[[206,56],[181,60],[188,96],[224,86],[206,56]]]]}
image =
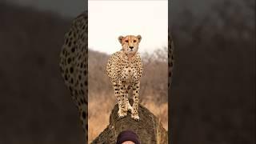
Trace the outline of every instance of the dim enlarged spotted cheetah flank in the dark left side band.
{"type": "Polygon", "coordinates": [[[87,12],[74,18],[70,30],[64,36],[59,67],[71,98],[78,108],[80,121],[88,142],[88,48],[87,12]]]}

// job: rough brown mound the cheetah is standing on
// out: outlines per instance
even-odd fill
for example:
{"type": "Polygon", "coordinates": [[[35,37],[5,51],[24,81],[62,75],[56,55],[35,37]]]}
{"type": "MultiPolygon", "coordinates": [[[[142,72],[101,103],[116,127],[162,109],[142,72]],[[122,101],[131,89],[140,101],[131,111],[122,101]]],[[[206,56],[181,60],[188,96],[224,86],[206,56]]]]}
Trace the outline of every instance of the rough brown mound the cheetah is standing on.
{"type": "MultiPolygon", "coordinates": [[[[130,102],[131,103],[131,102],[130,102]]],[[[159,118],[147,110],[146,107],[138,107],[139,121],[136,122],[128,112],[125,118],[118,118],[118,104],[114,106],[110,114],[110,124],[92,142],[93,144],[115,144],[118,134],[123,130],[133,130],[141,143],[167,144],[168,132],[162,127],[159,118]]]]}

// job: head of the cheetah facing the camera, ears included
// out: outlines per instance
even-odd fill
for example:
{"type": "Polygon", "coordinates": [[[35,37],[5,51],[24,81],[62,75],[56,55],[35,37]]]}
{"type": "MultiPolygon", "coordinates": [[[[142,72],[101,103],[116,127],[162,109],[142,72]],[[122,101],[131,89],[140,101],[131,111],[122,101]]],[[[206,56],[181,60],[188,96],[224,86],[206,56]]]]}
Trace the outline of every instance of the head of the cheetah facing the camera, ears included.
{"type": "Polygon", "coordinates": [[[119,42],[122,44],[122,50],[126,54],[134,55],[138,51],[138,44],[142,40],[142,36],[127,35],[126,37],[119,36],[119,42]]]}

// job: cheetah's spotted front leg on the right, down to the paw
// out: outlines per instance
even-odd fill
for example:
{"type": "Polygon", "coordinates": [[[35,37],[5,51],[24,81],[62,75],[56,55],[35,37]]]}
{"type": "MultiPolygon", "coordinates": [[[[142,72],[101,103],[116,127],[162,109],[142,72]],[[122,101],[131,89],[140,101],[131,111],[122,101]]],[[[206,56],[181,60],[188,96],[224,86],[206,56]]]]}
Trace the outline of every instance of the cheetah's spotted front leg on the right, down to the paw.
{"type": "Polygon", "coordinates": [[[133,85],[133,95],[134,95],[134,104],[131,111],[131,118],[134,118],[136,121],[139,120],[138,117],[138,93],[139,93],[140,82],[134,83],[133,85]]]}

